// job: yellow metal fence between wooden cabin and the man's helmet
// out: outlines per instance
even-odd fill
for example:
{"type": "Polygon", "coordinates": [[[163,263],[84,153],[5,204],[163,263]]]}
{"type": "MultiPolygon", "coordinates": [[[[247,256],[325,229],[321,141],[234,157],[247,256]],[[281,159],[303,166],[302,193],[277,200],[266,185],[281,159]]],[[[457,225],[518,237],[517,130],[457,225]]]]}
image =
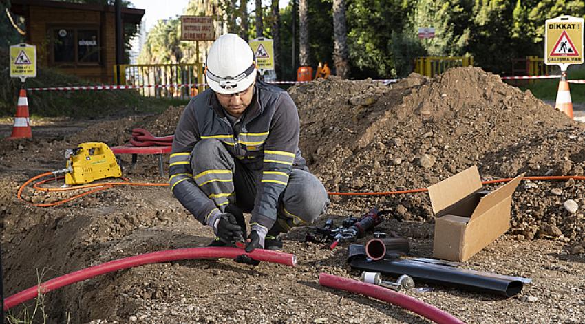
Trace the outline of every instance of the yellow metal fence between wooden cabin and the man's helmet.
{"type": "Polygon", "coordinates": [[[114,82],[144,86],[138,89],[142,96],[187,99],[204,90],[203,85],[195,87],[195,84],[203,83],[203,66],[202,63],[114,65],[114,82]],[[169,86],[150,87],[154,85],[169,86]]]}

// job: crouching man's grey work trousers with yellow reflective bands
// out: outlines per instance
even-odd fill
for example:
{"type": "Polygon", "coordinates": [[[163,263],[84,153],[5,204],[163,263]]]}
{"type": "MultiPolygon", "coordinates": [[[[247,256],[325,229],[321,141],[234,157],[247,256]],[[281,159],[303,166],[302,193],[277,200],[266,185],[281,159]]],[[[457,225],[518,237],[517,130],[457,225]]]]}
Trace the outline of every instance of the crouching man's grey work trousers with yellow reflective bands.
{"type": "MultiPolygon", "coordinates": [[[[226,208],[229,212],[229,208],[233,208],[231,205],[244,213],[252,212],[262,180],[262,162],[257,164],[240,162],[215,139],[200,140],[191,152],[195,183],[222,213],[226,208]]],[[[278,199],[277,222],[273,229],[286,233],[292,227],[315,222],[326,212],[329,203],[327,191],[315,175],[292,169],[288,184],[278,199]]]]}

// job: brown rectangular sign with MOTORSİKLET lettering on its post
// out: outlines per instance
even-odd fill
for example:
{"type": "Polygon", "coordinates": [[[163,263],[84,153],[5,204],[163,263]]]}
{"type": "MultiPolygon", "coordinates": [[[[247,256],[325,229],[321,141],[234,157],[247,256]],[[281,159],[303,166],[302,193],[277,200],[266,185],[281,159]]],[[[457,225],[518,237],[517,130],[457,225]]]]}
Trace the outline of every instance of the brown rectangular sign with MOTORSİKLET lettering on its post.
{"type": "MultiPolygon", "coordinates": [[[[199,41],[215,41],[213,17],[181,16],[181,41],[195,41],[195,61],[202,66],[199,61],[199,41]]],[[[203,71],[197,72],[197,78],[198,83],[202,83],[203,71]]],[[[203,91],[203,87],[200,86],[198,90],[203,91]]]]}

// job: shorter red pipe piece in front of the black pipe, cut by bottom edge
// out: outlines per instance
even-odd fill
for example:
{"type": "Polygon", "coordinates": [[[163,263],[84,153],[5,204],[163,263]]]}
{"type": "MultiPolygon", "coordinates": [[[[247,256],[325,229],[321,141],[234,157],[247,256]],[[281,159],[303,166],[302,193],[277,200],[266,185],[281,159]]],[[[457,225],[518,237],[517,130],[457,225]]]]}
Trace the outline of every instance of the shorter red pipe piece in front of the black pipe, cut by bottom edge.
{"type": "Polygon", "coordinates": [[[437,307],[424,303],[423,301],[401,294],[400,292],[395,292],[394,290],[383,288],[378,285],[372,285],[371,283],[364,283],[353,279],[337,277],[332,274],[321,273],[319,274],[319,284],[325,287],[355,292],[381,301],[386,301],[387,303],[415,312],[435,323],[465,323],[459,318],[456,318],[443,310],[439,310],[437,307]]]}

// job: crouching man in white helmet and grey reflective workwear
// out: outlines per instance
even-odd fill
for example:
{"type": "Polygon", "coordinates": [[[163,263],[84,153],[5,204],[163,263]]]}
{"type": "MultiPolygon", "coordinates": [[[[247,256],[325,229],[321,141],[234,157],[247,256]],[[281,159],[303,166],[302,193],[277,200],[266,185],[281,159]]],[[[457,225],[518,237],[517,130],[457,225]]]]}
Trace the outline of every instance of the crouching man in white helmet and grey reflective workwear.
{"type": "Polygon", "coordinates": [[[329,205],[299,150],[295,102],[258,80],[253,51],[235,34],[211,45],[205,76],[209,89],[191,98],[175,131],[171,191],[213,228],[210,246],[247,237],[246,252],[281,250],[279,234],[315,222],[329,205]],[[248,235],[244,213],[251,213],[248,235]]]}

